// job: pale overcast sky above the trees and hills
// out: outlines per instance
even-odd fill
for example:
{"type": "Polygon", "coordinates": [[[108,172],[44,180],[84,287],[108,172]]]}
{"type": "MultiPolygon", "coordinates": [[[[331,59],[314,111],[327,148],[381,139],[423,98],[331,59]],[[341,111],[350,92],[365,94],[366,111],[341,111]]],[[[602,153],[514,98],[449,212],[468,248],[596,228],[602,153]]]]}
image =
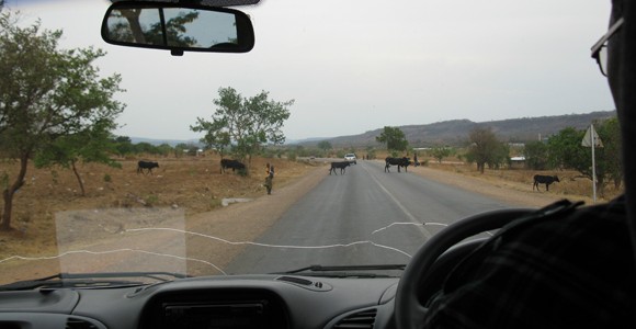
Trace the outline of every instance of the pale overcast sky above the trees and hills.
{"type": "Polygon", "coordinates": [[[295,100],[287,140],[356,135],[383,126],[468,118],[489,122],[611,111],[590,47],[607,30],[609,0],[263,0],[243,7],[255,46],[247,54],[109,45],[106,0],[8,0],[24,24],[64,31],[60,46],[107,55],[126,103],[116,135],[194,139],[218,89],[295,100]]]}

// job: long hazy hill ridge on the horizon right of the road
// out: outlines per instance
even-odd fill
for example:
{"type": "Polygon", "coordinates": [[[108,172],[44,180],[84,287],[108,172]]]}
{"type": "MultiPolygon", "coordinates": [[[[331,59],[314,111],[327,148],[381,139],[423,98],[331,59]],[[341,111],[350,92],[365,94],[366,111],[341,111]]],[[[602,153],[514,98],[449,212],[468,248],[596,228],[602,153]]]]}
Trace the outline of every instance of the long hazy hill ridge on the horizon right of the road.
{"type": "MultiPolygon", "coordinates": [[[[413,147],[440,145],[461,146],[466,141],[468,132],[477,125],[491,127],[495,134],[503,141],[523,143],[537,140],[540,136],[544,138],[554,135],[565,127],[584,129],[593,121],[603,121],[614,116],[616,116],[616,111],[522,117],[481,123],[469,120],[452,120],[427,125],[400,126],[399,128],[405,133],[407,140],[413,147]]],[[[379,136],[383,128],[365,132],[360,135],[313,139],[298,144],[314,146],[320,140],[327,140],[334,147],[378,146],[379,144],[375,141],[375,137],[379,136]]]]}

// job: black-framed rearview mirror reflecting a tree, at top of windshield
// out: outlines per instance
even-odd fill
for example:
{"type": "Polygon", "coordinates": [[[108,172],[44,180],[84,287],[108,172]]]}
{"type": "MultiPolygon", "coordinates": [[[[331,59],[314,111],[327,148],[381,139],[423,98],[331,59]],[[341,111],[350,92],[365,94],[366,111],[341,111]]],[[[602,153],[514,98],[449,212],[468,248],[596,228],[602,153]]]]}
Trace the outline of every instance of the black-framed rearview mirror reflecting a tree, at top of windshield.
{"type": "Polygon", "coordinates": [[[249,16],[238,10],[171,2],[113,3],[102,22],[110,44],[183,52],[247,53],[254,46],[249,16]]]}

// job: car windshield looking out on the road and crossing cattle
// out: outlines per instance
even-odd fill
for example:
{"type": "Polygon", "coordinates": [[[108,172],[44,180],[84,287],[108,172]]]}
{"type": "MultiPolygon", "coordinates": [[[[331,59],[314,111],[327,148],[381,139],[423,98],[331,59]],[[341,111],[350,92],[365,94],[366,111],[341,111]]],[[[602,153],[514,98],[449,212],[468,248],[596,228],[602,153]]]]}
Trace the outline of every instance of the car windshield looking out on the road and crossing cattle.
{"type": "Polygon", "coordinates": [[[109,1],[4,1],[0,280],[399,276],[463,217],[607,202],[584,2],[265,0],[251,52],[171,56],[104,43],[109,1]]]}

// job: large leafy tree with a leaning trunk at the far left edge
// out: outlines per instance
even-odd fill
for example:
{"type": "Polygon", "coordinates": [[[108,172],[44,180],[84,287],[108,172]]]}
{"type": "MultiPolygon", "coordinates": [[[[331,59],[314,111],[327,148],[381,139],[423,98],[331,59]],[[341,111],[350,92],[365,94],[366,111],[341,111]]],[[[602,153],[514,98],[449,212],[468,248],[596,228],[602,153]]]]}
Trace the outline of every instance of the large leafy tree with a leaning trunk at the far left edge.
{"type": "Polygon", "coordinates": [[[24,184],[29,160],[59,138],[114,122],[124,104],[113,100],[121,77],[99,78],[93,61],[100,49],[58,49],[61,31],[42,31],[36,22],[19,27],[10,12],[0,14],[0,148],[18,159],[13,182],[3,178],[0,229],[11,228],[13,196],[24,184]]]}

